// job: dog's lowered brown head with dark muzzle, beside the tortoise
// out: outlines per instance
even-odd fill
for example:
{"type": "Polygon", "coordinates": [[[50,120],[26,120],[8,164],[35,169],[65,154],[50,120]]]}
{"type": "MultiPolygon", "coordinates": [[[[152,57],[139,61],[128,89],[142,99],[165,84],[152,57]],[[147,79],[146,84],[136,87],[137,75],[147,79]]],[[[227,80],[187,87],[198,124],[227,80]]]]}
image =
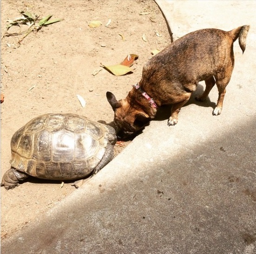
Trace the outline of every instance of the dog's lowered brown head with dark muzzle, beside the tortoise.
{"type": "Polygon", "coordinates": [[[107,92],[106,96],[115,113],[114,124],[119,140],[132,138],[151,121],[148,114],[138,106],[135,108],[134,105],[131,105],[127,98],[117,101],[111,92],[107,92]]]}

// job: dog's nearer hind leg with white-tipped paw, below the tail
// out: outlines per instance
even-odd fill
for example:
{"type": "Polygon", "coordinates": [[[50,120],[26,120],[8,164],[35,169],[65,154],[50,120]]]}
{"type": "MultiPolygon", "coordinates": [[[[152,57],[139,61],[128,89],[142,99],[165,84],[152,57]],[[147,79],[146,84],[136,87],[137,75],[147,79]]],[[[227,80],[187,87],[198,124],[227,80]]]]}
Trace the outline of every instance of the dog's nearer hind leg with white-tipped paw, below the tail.
{"type": "Polygon", "coordinates": [[[213,115],[218,115],[222,111],[223,100],[226,93],[226,86],[230,82],[233,67],[234,65],[232,64],[225,71],[223,71],[222,73],[218,73],[216,76],[214,76],[216,78],[219,97],[218,97],[216,108],[212,112],[213,115]]]}

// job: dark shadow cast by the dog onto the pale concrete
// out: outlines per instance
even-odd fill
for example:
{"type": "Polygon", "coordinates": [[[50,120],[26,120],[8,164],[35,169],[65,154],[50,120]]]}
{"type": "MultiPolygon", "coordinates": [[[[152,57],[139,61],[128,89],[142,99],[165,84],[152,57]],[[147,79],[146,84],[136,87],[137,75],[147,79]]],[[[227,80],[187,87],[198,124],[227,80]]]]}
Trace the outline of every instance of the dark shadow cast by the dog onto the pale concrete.
{"type": "MultiPolygon", "coordinates": [[[[204,102],[199,102],[196,100],[196,97],[198,95],[202,95],[203,91],[204,91],[203,85],[197,84],[197,90],[192,93],[189,101],[183,106],[183,108],[185,108],[186,106],[188,106],[190,104],[196,104],[197,106],[206,107],[206,108],[211,107],[212,109],[214,109],[216,107],[216,103],[211,102],[209,96],[206,98],[206,100],[204,102]]],[[[164,105],[164,106],[160,107],[156,114],[156,117],[153,120],[164,121],[164,120],[168,119],[171,115],[171,107],[172,107],[172,105],[164,105]]]]}

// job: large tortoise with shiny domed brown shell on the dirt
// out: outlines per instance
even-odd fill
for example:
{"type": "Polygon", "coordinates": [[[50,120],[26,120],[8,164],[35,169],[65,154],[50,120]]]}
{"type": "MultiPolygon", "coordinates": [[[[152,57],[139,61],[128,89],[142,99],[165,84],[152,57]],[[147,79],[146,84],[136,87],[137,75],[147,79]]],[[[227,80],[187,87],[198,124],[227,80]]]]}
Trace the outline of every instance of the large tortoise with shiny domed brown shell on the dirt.
{"type": "Polygon", "coordinates": [[[13,189],[29,176],[73,180],[94,175],[114,157],[111,126],[78,114],[43,114],[21,127],[11,140],[11,168],[1,186],[13,189]]]}

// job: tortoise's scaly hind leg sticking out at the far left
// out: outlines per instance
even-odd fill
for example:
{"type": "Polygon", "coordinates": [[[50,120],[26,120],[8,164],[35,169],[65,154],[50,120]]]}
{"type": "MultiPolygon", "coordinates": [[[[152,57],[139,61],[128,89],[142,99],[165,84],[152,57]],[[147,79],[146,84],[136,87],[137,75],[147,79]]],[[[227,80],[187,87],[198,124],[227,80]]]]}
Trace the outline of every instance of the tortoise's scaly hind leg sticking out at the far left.
{"type": "Polygon", "coordinates": [[[17,171],[15,168],[10,168],[4,173],[1,186],[5,186],[7,190],[13,189],[15,186],[19,186],[19,182],[26,178],[28,178],[26,173],[17,171]]]}

